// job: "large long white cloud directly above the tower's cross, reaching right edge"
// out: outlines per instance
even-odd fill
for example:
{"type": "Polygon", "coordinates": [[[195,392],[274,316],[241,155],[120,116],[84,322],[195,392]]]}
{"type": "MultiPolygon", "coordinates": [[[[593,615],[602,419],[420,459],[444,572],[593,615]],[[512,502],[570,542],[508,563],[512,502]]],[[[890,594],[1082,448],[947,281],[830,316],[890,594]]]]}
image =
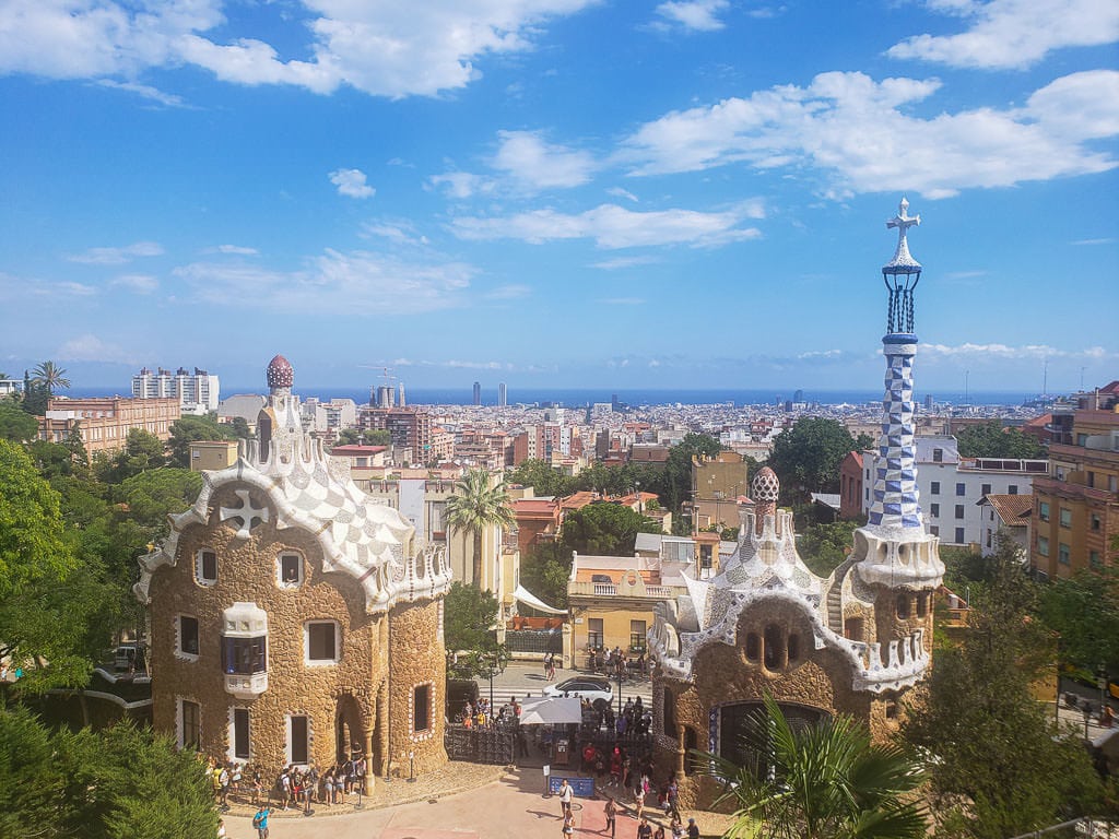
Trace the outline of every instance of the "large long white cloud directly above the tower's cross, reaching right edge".
{"type": "Polygon", "coordinates": [[[1057,78],[1019,109],[910,115],[939,87],[937,79],[822,73],[808,87],[784,85],[666,114],[626,141],[623,159],[636,175],[736,162],[763,170],[811,166],[828,178],[828,195],[902,189],[929,198],[1116,166],[1088,142],[1119,133],[1119,73],[1057,78]]]}

